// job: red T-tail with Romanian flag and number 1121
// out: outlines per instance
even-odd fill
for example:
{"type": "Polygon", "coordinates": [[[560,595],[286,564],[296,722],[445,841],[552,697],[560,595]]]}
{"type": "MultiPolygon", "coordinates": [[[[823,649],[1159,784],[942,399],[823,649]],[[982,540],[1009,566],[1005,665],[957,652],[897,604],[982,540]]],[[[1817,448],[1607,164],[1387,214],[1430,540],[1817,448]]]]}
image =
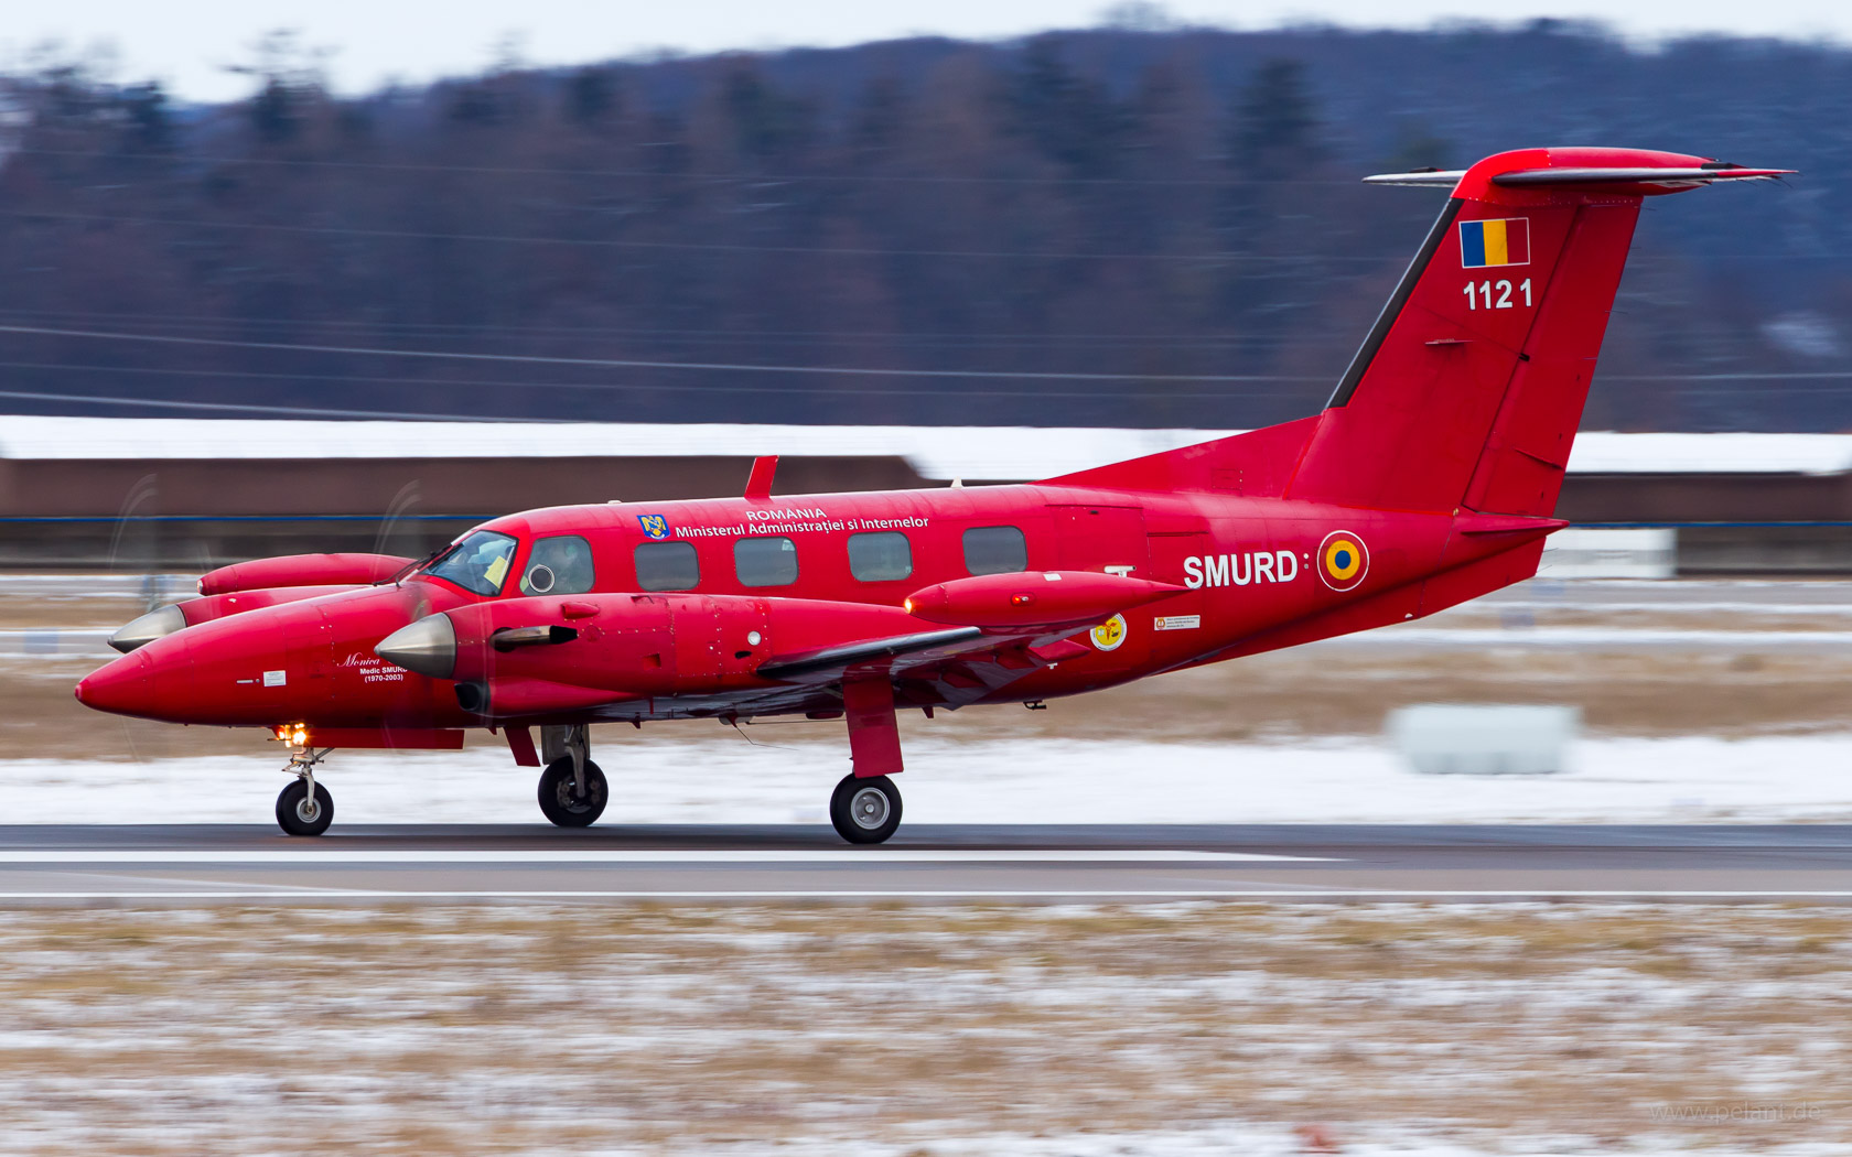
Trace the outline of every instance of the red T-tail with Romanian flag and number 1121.
{"type": "Polygon", "coordinates": [[[1526,148],[1461,172],[1365,178],[1452,196],[1324,413],[1059,481],[1546,518],[1641,200],[1785,172],[1526,148]]]}

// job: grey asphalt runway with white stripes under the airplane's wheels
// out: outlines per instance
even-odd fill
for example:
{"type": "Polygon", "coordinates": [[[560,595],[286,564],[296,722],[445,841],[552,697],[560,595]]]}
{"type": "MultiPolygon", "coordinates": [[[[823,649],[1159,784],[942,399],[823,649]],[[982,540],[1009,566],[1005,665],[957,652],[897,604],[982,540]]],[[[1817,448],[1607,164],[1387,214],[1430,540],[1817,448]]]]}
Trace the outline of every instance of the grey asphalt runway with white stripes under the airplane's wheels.
{"type": "Polygon", "coordinates": [[[1852,902],[1852,826],[0,827],[0,902],[1852,902]]]}

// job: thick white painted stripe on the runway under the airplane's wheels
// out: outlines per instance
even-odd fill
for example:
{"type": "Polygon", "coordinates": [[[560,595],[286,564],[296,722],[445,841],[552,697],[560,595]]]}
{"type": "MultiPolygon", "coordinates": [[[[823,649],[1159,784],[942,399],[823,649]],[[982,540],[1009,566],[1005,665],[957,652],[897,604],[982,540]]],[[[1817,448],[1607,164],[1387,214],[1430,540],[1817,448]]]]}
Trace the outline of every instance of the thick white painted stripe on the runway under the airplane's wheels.
{"type": "Polygon", "coordinates": [[[31,852],[0,852],[0,865],[983,865],[983,863],[1330,863],[1322,855],[1269,855],[1263,852],[1187,852],[1174,848],[1102,852],[1069,848],[767,848],[763,852],[739,848],[541,848],[533,852],[469,852],[469,850],[265,850],[248,852],[185,852],[131,848],[81,850],[54,848],[31,852]]]}

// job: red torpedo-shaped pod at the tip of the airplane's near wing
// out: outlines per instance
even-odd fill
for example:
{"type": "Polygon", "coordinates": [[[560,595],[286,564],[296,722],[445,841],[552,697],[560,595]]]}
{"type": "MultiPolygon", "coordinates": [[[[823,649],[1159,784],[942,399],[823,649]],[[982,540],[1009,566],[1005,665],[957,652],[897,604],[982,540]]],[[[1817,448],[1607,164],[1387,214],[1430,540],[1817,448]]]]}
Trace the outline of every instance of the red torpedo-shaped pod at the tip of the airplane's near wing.
{"type": "Polygon", "coordinates": [[[1095,570],[1020,570],[924,587],[907,596],[906,609],[961,628],[1032,629],[1106,622],[1172,594],[1185,591],[1095,570]]]}

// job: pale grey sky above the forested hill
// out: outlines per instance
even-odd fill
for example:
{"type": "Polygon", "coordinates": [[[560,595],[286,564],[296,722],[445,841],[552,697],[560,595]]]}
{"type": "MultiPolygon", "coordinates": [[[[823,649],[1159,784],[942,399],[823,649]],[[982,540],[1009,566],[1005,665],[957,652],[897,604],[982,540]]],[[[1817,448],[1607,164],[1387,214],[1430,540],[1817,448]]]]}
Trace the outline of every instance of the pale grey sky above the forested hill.
{"type": "MultiPolygon", "coordinates": [[[[154,78],[193,100],[230,100],[250,81],[226,72],[252,61],[267,31],[291,28],[330,48],[343,93],[391,80],[424,81],[478,70],[519,46],[519,59],[563,65],[650,48],[715,52],[854,44],[917,31],[1007,37],[1096,24],[1107,0],[15,0],[0,24],[0,68],[61,52],[109,46],[117,80],[154,78]]],[[[1426,26],[1445,19],[1593,17],[1635,37],[1737,31],[1852,41],[1846,0],[1174,0],[1187,22],[1261,28],[1295,19],[1367,26],[1426,26]]]]}

